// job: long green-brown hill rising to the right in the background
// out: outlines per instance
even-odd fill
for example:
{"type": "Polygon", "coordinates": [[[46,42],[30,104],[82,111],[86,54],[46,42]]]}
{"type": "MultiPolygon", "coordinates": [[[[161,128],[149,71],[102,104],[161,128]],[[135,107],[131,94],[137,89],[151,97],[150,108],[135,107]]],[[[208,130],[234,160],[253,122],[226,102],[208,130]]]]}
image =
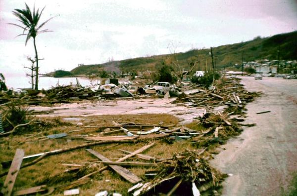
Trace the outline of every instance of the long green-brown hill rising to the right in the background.
{"type": "MultiPolygon", "coordinates": [[[[217,68],[228,67],[244,61],[253,61],[257,59],[275,60],[280,51],[281,60],[297,60],[297,31],[279,34],[269,38],[257,37],[250,41],[241,43],[221,45],[213,48],[214,61],[217,68]]],[[[157,55],[151,57],[139,57],[121,61],[112,61],[103,64],[81,65],[71,70],[74,75],[88,75],[99,73],[102,70],[110,72],[137,72],[154,71],[162,61],[172,62],[178,60],[178,63],[185,69],[189,67],[191,59],[198,58],[197,69],[205,69],[206,61],[211,66],[210,48],[194,49],[187,52],[176,54],[157,55]],[[169,60],[171,59],[171,60],[169,60]]]]}

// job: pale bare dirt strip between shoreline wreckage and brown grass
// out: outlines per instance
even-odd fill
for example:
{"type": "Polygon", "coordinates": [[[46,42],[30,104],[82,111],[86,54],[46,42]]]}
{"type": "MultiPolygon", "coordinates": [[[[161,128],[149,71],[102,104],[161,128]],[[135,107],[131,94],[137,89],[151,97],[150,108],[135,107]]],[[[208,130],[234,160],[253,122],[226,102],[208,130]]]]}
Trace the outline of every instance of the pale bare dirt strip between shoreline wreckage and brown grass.
{"type": "Polygon", "coordinates": [[[133,99],[133,100],[99,100],[97,102],[84,102],[72,104],[59,104],[51,107],[32,106],[30,110],[53,111],[49,115],[38,117],[69,117],[69,116],[100,116],[100,115],[138,115],[138,114],[169,114],[179,118],[179,123],[191,122],[193,117],[204,110],[190,108],[185,104],[171,104],[170,99],[133,99]]]}

